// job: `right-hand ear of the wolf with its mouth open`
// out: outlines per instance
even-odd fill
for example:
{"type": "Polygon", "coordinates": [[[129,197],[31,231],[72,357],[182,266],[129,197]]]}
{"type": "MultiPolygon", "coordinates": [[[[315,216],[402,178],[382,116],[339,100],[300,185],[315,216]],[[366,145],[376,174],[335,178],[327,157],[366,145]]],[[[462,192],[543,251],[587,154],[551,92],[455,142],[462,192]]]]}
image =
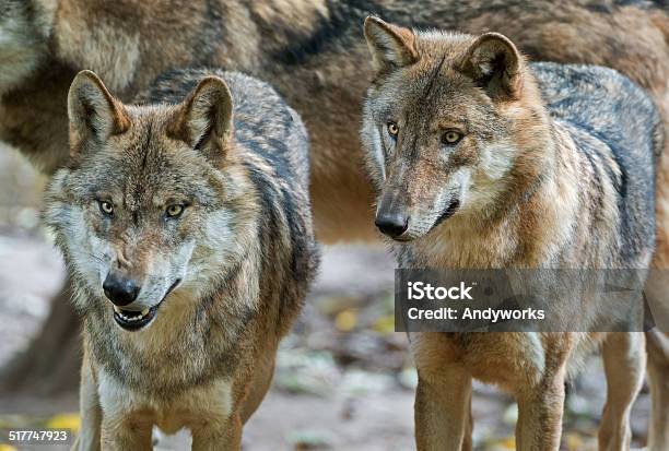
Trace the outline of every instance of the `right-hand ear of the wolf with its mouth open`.
{"type": "Polygon", "coordinates": [[[193,149],[222,153],[232,134],[232,94],[218,76],[207,76],[184,102],[173,130],[193,149]]]}

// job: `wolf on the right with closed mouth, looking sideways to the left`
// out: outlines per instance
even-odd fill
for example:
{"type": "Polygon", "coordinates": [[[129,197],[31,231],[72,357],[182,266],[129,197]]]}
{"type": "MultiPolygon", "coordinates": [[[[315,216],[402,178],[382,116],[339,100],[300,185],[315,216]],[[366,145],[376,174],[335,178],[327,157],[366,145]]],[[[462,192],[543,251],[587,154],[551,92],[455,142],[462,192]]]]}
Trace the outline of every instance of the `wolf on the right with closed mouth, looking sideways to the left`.
{"type": "MultiPolygon", "coordinates": [[[[361,135],[376,226],[400,268],[648,268],[664,126],[642,88],[611,69],[529,64],[498,33],[369,16],[364,34],[375,76],[361,135]]],[[[517,449],[558,450],[565,380],[598,345],[608,382],[599,449],[630,447],[642,333],[410,333],[410,342],[419,450],[471,449],[472,378],[515,395],[517,449]]]]}

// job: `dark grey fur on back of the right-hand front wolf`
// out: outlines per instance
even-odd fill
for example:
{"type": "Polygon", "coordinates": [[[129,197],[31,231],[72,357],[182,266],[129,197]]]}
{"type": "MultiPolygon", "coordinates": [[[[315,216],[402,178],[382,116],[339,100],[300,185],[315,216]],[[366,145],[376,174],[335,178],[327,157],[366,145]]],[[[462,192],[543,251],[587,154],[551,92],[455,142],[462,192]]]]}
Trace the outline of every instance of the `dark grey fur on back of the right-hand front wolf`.
{"type": "MultiPolygon", "coordinates": [[[[661,118],[649,96],[620,73],[592,66],[531,66],[551,116],[586,156],[592,189],[586,203],[601,202],[603,180],[617,191],[618,264],[635,260],[655,244],[655,161],[664,149],[661,118]],[[602,164],[612,155],[612,167],[602,164]]],[[[596,209],[596,205],[592,206],[596,209]]]]}

